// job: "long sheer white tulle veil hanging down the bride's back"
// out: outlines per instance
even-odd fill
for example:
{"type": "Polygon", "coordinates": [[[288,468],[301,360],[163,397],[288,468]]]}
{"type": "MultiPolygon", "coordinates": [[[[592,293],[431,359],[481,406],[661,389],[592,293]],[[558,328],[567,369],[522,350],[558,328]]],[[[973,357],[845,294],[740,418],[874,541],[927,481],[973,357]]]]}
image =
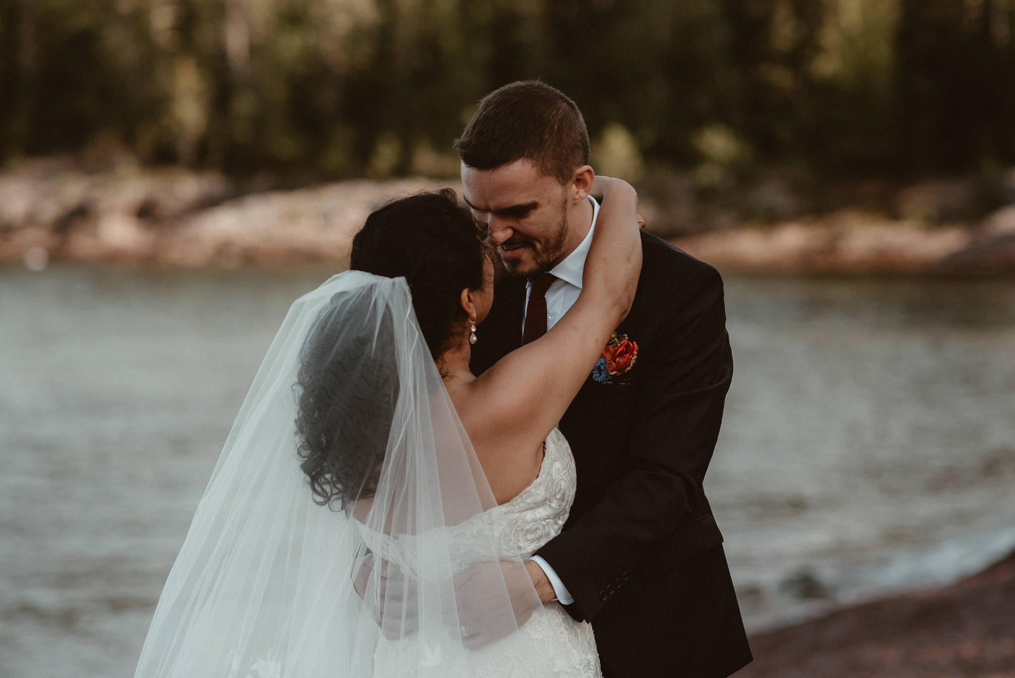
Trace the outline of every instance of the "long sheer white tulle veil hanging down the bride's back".
{"type": "Polygon", "coordinates": [[[257,372],[135,677],[386,676],[389,655],[404,667],[407,653],[416,675],[468,675],[456,576],[501,561],[482,605],[496,637],[518,627],[509,583],[528,580],[504,535],[474,531],[466,550],[446,539],[493,505],[405,279],[335,275],[292,305],[257,372]],[[324,410],[338,413],[323,422],[333,450],[324,477],[342,479],[327,505],[300,468],[308,431],[322,435],[296,423],[313,419],[300,412],[307,370],[324,380],[324,410]],[[367,554],[386,566],[360,598],[353,576],[367,554]],[[391,595],[382,572],[411,595],[391,595]]]}

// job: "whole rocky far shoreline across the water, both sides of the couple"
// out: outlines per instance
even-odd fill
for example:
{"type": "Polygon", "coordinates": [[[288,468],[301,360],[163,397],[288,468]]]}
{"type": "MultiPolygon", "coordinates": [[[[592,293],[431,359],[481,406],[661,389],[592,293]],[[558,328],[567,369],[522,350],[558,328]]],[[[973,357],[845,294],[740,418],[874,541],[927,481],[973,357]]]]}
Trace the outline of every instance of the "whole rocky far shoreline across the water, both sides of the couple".
{"type": "MultiPolygon", "coordinates": [[[[137,167],[86,172],[59,160],[33,161],[0,174],[0,263],[341,265],[371,209],[396,195],[449,185],[461,188],[453,181],[410,178],[273,190],[211,172],[137,167]]],[[[680,235],[694,220],[677,223],[679,210],[653,194],[647,191],[642,200],[650,231],[723,270],[1015,271],[1015,204],[976,223],[929,224],[837,209],[763,226],[726,220],[709,231],[680,235]]]]}

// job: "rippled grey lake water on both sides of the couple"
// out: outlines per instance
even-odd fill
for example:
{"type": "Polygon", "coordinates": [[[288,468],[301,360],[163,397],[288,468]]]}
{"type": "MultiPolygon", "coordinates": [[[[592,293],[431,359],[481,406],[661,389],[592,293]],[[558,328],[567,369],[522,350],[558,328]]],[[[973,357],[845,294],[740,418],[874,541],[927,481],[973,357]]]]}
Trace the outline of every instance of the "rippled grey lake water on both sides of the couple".
{"type": "MultiPolygon", "coordinates": [[[[129,677],[232,418],[324,270],[0,268],[0,676],[129,677]]],[[[1015,548],[1015,282],[727,280],[706,487],[759,629],[1015,548]]]]}

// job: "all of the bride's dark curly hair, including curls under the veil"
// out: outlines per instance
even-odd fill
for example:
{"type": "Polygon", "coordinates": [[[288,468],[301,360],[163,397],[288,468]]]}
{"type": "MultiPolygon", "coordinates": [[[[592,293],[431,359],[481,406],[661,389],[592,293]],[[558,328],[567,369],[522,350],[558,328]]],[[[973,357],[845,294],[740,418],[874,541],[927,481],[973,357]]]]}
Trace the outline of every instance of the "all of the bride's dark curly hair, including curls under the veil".
{"type": "MultiPolygon", "coordinates": [[[[444,189],[390,202],[373,212],[352,241],[350,267],[404,276],[430,355],[461,332],[465,288],[483,285],[488,253],[472,218],[444,189]]],[[[302,347],[296,383],[300,468],[315,501],[346,509],[373,496],[380,480],[398,395],[394,357],[374,345],[383,327],[350,322],[356,297],[333,300],[302,347]]],[[[382,323],[391,323],[384,315],[382,323]]]]}

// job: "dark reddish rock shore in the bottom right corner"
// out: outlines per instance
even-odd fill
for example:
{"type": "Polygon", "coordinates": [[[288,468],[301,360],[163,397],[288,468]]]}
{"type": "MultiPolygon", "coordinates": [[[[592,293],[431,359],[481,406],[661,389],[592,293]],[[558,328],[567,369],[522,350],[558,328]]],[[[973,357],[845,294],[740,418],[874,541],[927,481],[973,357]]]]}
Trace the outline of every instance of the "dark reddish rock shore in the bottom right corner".
{"type": "Polygon", "coordinates": [[[751,638],[737,678],[1012,678],[1015,553],[957,583],[751,638]]]}

